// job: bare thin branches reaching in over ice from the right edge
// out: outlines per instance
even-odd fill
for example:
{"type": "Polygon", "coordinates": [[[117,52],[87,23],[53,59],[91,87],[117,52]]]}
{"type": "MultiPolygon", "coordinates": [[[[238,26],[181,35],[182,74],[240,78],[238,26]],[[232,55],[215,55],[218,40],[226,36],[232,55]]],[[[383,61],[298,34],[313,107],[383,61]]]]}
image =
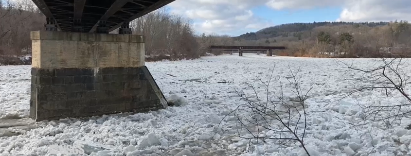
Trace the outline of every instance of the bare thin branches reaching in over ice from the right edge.
{"type": "MultiPolygon", "coordinates": [[[[361,120],[358,124],[365,125],[378,121],[383,121],[388,127],[400,125],[403,119],[411,116],[411,97],[407,93],[410,85],[410,77],[404,71],[405,60],[402,58],[381,58],[375,63],[375,67],[361,69],[353,63],[347,64],[340,61],[348,68],[347,72],[359,72],[358,76],[353,76],[348,81],[355,84],[355,87],[346,96],[365,91],[377,91],[387,97],[397,100],[397,104],[359,104],[362,109],[361,120]],[[398,96],[404,100],[398,99],[398,96]]],[[[410,124],[410,123],[406,123],[410,124]]]]}

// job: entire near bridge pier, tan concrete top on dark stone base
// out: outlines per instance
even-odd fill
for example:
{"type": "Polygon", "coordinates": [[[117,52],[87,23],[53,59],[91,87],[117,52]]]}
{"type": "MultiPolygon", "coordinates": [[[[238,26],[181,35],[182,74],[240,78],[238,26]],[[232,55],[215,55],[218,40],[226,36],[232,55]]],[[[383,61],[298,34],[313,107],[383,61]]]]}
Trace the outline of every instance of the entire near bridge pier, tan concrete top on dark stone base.
{"type": "Polygon", "coordinates": [[[31,32],[30,117],[146,112],[167,102],[144,66],[142,35],[31,32]]]}

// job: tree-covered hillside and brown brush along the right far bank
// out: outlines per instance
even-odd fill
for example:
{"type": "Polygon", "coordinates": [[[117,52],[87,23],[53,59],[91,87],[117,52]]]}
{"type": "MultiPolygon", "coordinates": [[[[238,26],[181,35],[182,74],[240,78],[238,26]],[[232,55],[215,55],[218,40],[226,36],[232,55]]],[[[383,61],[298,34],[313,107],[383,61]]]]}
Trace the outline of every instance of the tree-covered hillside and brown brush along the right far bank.
{"type": "MultiPolygon", "coordinates": [[[[282,55],[304,57],[325,57],[322,51],[326,48],[329,48],[330,51],[338,50],[338,52],[341,52],[339,55],[333,55],[333,57],[360,56],[373,58],[390,55],[379,52],[381,49],[403,48],[405,52],[404,48],[410,49],[408,43],[411,41],[411,24],[408,21],[393,21],[388,24],[385,23],[385,25],[381,24],[347,23],[335,25],[335,23],[330,23],[330,25],[318,26],[311,30],[298,31],[295,30],[295,27],[298,27],[298,24],[295,23],[276,31],[263,29],[257,33],[240,35],[235,37],[235,43],[254,46],[286,46],[288,53],[282,55]],[[320,32],[330,35],[329,45],[316,44],[317,35],[320,32]],[[341,42],[340,35],[343,33],[353,35],[354,42],[341,42]]],[[[315,23],[308,25],[315,25],[315,23]]],[[[411,57],[411,55],[403,53],[402,57],[411,57]]]]}

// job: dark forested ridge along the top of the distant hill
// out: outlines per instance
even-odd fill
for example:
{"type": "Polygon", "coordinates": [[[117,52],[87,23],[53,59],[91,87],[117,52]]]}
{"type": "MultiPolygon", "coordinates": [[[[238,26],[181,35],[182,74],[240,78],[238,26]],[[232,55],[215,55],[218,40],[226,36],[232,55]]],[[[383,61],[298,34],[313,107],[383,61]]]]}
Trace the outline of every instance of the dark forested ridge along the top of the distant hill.
{"type": "Polygon", "coordinates": [[[321,26],[338,26],[338,25],[354,25],[360,26],[365,25],[369,27],[383,26],[387,25],[388,22],[314,22],[314,23],[289,23],[281,24],[273,27],[268,27],[261,29],[257,32],[246,33],[237,37],[235,39],[245,39],[245,40],[258,40],[262,38],[272,38],[283,36],[287,37],[289,35],[294,35],[297,33],[303,33],[305,31],[311,31],[315,27],[321,26]]]}

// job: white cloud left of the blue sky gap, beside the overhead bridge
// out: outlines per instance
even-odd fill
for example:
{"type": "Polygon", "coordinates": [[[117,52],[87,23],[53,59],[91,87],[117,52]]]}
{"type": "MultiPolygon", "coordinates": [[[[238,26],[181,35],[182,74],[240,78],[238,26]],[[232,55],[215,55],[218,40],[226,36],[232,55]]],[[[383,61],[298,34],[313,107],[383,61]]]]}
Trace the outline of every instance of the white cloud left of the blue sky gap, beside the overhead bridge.
{"type": "Polygon", "coordinates": [[[172,12],[195,19],[198,33],[239,35],[271,25],[256,17],[251,9],[267,0],[176,0],[168,6],[172,12]]]}

